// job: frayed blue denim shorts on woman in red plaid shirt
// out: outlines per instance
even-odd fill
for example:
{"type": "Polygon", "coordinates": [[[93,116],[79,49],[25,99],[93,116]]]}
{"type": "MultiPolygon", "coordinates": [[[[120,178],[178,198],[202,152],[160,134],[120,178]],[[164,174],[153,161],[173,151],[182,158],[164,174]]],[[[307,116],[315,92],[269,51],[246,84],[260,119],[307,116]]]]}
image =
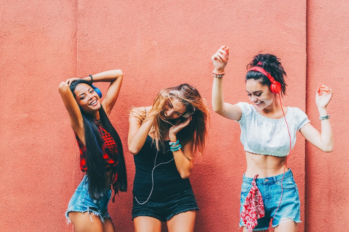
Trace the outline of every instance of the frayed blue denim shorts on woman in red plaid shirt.
{"type": "MultiPolygon", "coordinates": [[[[110,218],[107,206],[111,198],[111,191],[112,190],[109,189],[107,194],[105,194],[104,197],[99,200],[91,199],[90,195],[88,194],[88,182],[87,176],[85,175],[68,203],[68,209],[65,213],[67,224],[71,222],[68,216],[68,213],[71,211],[82,213],[89,211],[92,213],[92,215],[99,216],[102,223],[104,223],[105,218],[110,218]]],[[[90,219],[92,221],[91,215],[90,219]]]]}

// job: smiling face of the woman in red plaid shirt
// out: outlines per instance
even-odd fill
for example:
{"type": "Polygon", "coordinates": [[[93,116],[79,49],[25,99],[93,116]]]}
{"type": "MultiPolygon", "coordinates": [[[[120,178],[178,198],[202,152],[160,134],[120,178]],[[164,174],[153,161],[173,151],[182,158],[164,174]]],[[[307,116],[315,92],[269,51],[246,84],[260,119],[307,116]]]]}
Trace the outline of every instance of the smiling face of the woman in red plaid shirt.
{"type": "Polygon", "coordinates": [[[76,86],[74,95],[77,104],[86,113],[93,113],[101,108],[101,99],[99,99],[98,94],[91,86],[85,83],[80,83],[76,86]]]}

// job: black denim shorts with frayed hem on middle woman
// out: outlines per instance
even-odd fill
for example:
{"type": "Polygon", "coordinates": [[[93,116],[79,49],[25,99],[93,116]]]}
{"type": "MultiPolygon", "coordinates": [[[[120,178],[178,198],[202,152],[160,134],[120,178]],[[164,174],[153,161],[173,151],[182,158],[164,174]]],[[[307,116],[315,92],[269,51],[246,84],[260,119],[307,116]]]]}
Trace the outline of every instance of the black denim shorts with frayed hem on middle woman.
{"type": "Polygon", "coordinates": [[[192,189],[182,190],[168,195],[152,195],[146,203],[140,204],[147,199],[148,197],[133,196],[132,220],[138,216],[148,216],[166,222],[174,215],[189,210],[199,211],[192,189]]]}

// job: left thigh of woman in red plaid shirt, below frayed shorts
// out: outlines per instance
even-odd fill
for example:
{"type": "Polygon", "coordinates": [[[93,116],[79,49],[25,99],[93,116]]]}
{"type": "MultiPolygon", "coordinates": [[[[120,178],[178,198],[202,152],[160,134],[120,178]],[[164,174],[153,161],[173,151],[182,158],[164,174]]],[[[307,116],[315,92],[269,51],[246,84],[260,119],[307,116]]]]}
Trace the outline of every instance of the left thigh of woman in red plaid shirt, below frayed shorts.
{"type": "Polygon", "coordinates": [[[71,211],[68,215],[76,232],[103,232],[101,219],[97,215],[88,211],[84,213],[71,211]]]}

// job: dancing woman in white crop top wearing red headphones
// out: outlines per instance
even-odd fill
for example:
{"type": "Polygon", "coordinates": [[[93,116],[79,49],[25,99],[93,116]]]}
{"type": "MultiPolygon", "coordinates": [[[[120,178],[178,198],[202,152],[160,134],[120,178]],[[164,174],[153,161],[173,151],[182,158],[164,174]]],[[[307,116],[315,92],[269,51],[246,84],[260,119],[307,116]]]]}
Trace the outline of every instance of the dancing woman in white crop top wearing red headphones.
{"type": "Polygon", "coordinates": [[[225,74],[224,68],[228,63],[228,58],[229,48],[227,46],[222,46],[211,57],[215,67],[212,105],[218,114],[240,123],[240,140],[244,145],[247,169],[243,175],[240,202],[240,214],[242,212],[243,214],[241,214],[239,225],[244,226],[244,231],[247,229],[252,231],[254,222],[248,221],[248,218],[246,220],[246,215],[252,210],[259,214],[258,216],[254,214],[258,219],[258,224],[253,231],[266,231],[270,219],[275,215],[272,223],[275,232],[295,232],[298,228],[297,223],[300,223],[300,202],[297,185],[291,170],[287,167],[290,145],[292,144],[291,147],[295,145],[296,132],[299,131],[319,150],[332,151],[333,135],[326,106],[331,100],[333,91],[321,84],[316,91],[315,103],[321,119],[321,133],[319,133],[309,123],[307,115],[302,110],[281,105],[279,92],[281,91],[281,96],[285,95],[284,77],[286,73],[279,62],[280,59],[274,55],[258,54],[247,65],[248,69],[252,68],[245,77],[246,91],[251,104],[246,102],[236,105],[225,103],[222,77],[225,74]],[[272,84],[270,75],[280,84],[275,82],[272,84]],[[284,114],[288,125],[285,123],[284,114]],[[257,174],[259,174],[258,178],[257,174]],[[283,195],[280,203],[281,193],[283,195]],[[254,202],[252,198],[257,205],[251,209],[248,208],[249,202],[245,200],[254,194],[257,200],[261,200],[258,198],[261,196],[263,202],[254,202]],[[262,207],[264,210],[261,210],[262,207]],[[261,214],[261,211],[265,216],[261,214]],[[248,222],[247,228],[243,219],[246,223],[248,222]]]}

